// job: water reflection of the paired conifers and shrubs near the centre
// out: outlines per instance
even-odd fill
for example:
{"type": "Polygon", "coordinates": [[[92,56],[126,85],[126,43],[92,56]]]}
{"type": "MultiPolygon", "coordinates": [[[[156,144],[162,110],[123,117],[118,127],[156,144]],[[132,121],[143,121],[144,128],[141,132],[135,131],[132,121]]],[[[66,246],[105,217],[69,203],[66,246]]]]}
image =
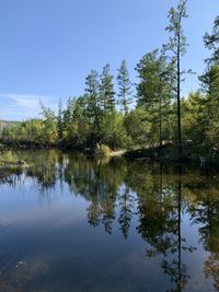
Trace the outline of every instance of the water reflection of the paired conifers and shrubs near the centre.
{"type": "Polygon", "coordinates": [[[65,168],[65,179],[70,190],[90,201],[88,222],[93,226],[102,223],[108,234],[112,234],[123,175],[119,161],[101,163],[93,159],[84,160],[83,156],[69,160],[65,168]]]}

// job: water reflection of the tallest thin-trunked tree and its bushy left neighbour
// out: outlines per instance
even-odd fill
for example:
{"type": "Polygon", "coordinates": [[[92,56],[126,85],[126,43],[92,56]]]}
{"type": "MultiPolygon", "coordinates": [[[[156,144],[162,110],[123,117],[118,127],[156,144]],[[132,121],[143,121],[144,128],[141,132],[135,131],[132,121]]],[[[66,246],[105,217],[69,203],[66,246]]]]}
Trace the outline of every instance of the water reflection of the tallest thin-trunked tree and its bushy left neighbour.
{"type": "Polygon", "coordinates": [[[159,168],[151,167],[147,175],[143,168],[142,171],[145,178],[140,168],[137,178],[139,198],[137,231],[150,245],[147,248],[147,256],[163,256],[162,269],[175,283],[170,291],[182,291],[188,278],[186,266],[182,262],[182,250],[194,249],[186,246],[181,233],[182,170],[177,180],[174,178],[171,183],[165,180],[162,165],[159,168]]]}

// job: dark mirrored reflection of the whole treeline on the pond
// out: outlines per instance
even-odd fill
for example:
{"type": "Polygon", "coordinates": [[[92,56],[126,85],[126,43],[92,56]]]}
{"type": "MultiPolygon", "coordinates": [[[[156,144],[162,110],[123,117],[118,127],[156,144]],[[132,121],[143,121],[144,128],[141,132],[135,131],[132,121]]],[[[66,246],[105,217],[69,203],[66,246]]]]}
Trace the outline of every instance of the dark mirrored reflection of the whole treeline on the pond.
{"type": "Polygon", "coordinates": [[[140,236],[146,259],[157,258],[169,279],[163,291],[188,291],[186,285],[192,279],[187,258],[196,253],[199,244],[187,241],[182,230],[188,218],[189,224],[197,226],[199,242],[207,255],[203,275],[212,281],[214,290],[219,291],[217,173],[143,161],[97,161],[54,150],[18,152],[16,156],[27,165],[1,168],[2,186],[8,184],[18,188],[28,179],[38,190],[41,200],[53,196],[57,188],[64,192],[67,186],[70,194],[88,202],[85,211],[90,226],[103,226],[111,236],[119,232],[126,241],[132,233],[140,236]]]}

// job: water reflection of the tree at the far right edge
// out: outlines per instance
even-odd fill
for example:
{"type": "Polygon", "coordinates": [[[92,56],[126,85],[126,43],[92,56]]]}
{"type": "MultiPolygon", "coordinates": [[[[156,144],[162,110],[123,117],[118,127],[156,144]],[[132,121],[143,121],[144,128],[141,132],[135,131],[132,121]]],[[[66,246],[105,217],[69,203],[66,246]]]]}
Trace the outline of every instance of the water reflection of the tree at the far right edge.
{"type": "Polygon", "coordinates": [[[204,247],[210,253],[205,261],[205,275],[212,278],[214,287],[219,291],[219,184],[218,176],[197,177],[187,189],[195,195],[191,205],[193,223],[200,225],[199,234],[204,247]]]}

